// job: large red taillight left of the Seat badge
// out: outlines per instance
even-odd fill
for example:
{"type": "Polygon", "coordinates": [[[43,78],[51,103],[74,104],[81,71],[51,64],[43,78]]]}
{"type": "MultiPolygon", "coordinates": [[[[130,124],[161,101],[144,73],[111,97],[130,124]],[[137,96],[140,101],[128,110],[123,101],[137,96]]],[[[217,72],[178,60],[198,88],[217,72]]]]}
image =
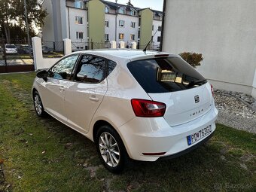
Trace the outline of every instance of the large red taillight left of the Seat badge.
{"type": "Polygon", "coordinates": [[[137,117],[163,117],[166,104],[144,99],[132,99],[133,111],[137,117]]]}

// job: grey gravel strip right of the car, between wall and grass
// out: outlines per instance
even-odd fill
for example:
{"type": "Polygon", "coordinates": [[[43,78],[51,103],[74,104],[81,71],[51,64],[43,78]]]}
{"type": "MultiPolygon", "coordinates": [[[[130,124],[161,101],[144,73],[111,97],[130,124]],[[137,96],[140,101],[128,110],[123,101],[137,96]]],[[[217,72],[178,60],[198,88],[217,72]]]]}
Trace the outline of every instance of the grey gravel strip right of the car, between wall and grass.
{"type": "Polygon", "coordinates": [[[256,133],[256,112],[239,99],[215,94],[215,104],[219,111],[217,123],[256,133]]]}

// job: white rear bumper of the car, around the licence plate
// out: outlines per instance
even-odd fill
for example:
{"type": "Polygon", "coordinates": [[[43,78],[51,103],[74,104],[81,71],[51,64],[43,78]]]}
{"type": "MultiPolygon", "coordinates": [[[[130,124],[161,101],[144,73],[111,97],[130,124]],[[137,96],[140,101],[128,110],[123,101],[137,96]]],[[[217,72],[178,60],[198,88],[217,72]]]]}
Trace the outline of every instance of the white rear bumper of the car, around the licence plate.
{"type": "Polygon", "coordinates": [[[178,157],[206,142],[215,131],[218,110],[215,106],[202,117],[178,126],[169,126],[163,117],[135,117],[120,126],[118,132],[129,156],[134,160],[155,161],[178,157]],[[192,145],[187,145],[187,136],[197,133],[206,126],[212,126],[212,133],[192,145]],[[144,155],[142,153],[160,153],[164,155],[144,155]]]}

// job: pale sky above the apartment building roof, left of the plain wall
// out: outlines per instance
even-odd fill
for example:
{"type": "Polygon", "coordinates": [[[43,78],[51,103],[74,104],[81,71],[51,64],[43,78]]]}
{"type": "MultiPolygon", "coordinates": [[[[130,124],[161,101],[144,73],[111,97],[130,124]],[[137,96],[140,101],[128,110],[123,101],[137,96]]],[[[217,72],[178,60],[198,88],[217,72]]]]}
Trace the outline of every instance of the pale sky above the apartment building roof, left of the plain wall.
{"type": "MultiPolygon", "coordinates": [[[[107,0],[115,2],[115,0],[107,0]]],[[[117,0],[117,3],[126,5],[128,0],[117,0]]],[[[131,3],[136,8],[151,8],[157,11],[163,11],[163,0],[131,0],[131,3]]]]}

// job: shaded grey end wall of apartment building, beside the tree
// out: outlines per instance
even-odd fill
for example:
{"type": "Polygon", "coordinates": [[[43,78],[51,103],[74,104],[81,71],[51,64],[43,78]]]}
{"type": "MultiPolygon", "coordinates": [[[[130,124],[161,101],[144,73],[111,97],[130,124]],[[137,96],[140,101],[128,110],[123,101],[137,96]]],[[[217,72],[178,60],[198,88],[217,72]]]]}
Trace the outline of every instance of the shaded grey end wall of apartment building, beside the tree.
{"type": "Polygon", "coordinates": [[[42,4],[47,9],[47,17],[44,18],[44,26],[42,27],[43,41],[54,41],[53,28],[53,7],[50,0],[45,0],[42,4]]]}

